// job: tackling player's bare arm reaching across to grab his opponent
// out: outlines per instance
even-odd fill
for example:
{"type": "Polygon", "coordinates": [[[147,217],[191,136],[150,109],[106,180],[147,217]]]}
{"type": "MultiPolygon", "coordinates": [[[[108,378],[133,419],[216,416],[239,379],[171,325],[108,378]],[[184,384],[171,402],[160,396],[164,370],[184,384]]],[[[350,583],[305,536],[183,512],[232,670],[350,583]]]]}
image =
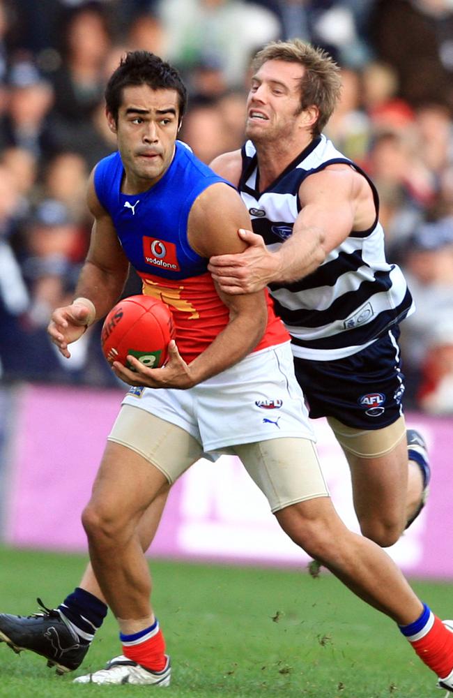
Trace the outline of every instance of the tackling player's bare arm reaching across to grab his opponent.
{"type": "Polygon", "coordinates": [[[247,250],[236,258],[211,258],[209,269],[213,278],[224,292],[231,294],[256,291],[272,281],[303,279],[348,237],[366,189],[372,199],[364,177],[348,165],[332,165],[312,174],[300,186],[302,209],[295,219],[293,234],[279,250],[269,251],[260,235],[242,230],[240,237],[249,244],[247,250]]]}

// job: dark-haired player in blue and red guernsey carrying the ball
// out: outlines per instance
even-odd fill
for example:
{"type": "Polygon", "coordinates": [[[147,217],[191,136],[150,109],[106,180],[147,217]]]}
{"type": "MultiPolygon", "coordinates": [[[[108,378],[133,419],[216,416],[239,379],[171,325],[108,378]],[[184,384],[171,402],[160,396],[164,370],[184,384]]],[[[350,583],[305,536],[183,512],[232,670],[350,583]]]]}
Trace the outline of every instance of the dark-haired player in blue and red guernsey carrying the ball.
{"type": "Polygon", "coordinates": [[[185,104],[178,73],[152,54],[132,52],[112,76],[106,101],[119,154],[102,161],[91,178],[91,247],[77,298],[54,311],[49,334],[68,356],[70,342],[116,302],[132,263],[144,291],[174,311],[176,344],[162,369],[133,357],[135,371],[114,364],[132,391],[82,517],[91,566],[58,609],[28,618],[1,614],[0,639],[44,655],[60,671],[75,669],[109,604],[123,653],[75,681],[169,685],[170,662],[151,607],[143,551],[172,482],[203,452],[229,447],[286,534],[398,623],[443,685],[453,686],[453,633],[417,598],[385,551],[351,533],[335,512],[295,380],[289,335],[266,304],[266,293],[214,295],[208,258],[243,251],[237,231],[249,219],[238,193],[176,142],[185,104]],[[269,397],[279,406],[277,429],[260,409],[269,397]]]}

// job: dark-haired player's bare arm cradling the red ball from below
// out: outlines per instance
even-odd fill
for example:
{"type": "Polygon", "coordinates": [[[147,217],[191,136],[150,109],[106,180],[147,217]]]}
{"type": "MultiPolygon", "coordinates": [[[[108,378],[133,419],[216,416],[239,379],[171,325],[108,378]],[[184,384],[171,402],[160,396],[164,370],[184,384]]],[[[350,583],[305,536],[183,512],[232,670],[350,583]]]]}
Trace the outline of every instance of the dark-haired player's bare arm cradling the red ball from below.
{"type": "MultiPolygon", "coordinates": [[[[238,228],[249,225],[247,209],[238,193],[227,184],[213,184],[199,195],[190,211],[190,246],[206,258],[240,253],[246,245],[238,237],[238,228]]],[[[229,322],[196,359],[186,364],[172,342],[169,362],[164,368],[146,369],[133,357],[128,357],[136,372],[115,363],[116,375],[132,385],[185,389],[215,376],[249,354],[266,329],[268,309],[264,292],[232,296],[217,290],[229,309],[229,322]]]]}

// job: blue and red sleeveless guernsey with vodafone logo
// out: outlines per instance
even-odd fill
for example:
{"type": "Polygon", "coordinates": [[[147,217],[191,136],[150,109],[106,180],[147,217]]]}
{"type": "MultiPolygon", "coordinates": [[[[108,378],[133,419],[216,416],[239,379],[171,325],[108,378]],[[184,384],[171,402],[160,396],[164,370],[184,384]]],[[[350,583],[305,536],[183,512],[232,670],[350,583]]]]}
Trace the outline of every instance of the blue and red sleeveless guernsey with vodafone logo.
{"type": "MultiPolygon", "coordinates": [[[[181,142],[167,172],[147,191],[121,193],[124,170],[118,152],[95,169],[98,199],[111,216],[123,251],[143,281],[143,292],[170,306],[176,343],[185,361],[197,357],[229,321],[207,266],[187,242],[194,200],[211,184],[225,181],[181,142]]],[[[228,184],[228,183],[227,183],[228,184]]],[[[255,351],[289,337],[268,297],[268,326],[255,351]]]]}

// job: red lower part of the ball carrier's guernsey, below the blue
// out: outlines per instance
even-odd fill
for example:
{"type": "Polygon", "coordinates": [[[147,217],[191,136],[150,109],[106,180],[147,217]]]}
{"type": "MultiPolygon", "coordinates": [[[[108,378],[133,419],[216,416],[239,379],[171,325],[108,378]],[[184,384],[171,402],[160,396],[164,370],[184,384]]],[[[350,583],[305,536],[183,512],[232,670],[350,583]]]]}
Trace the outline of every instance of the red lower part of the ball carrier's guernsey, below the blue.
{"type": "MultiPolygon", "coordinates": [[[[166,303],[174,316],[176,343],[183,359],[190,363],[228,324],[229,310],[222,302],[209,273],[174,281],[153,274],[140,274],[145,295],[166,303]]],[[[289,341],[282,320],[275,315],[267,290],[268,325],[254,351],[289,341]]]]}

